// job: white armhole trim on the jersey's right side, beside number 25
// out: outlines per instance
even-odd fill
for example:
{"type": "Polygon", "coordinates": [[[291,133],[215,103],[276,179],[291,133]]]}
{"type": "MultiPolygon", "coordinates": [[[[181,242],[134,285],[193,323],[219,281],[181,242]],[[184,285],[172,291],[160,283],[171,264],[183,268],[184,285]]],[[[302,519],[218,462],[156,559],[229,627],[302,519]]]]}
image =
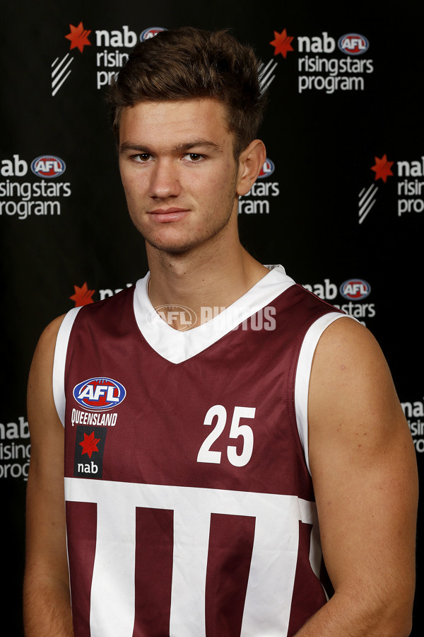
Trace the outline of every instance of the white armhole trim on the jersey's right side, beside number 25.
{"type": "MultiPolygon", "coordinates": [[[[300,442],[302,443],[303,450],[305,452],[305,461],[307,470],[310,470],[309,463],[309,449],[308,449],[308,422],[307,422],[307,399],[309,395],[309,384],[312,368],[312,359],[314,357],[315,348],[317,348],[318,341],[322,336],[322,333],[328,328],[331,323],[337,319],[353,319],[353,316],[348,314],[340,314],[340,312],[329,312],[324,314],[317,321],[312,323],[312,326],[305,334],[305,338],[300,348],[298,369],[296,370],[295,379],[295,410],[296,420],[298,423],[298,432],[300,442]]],[[[355,321],[356,319],[353,319],[355,321]]]]}

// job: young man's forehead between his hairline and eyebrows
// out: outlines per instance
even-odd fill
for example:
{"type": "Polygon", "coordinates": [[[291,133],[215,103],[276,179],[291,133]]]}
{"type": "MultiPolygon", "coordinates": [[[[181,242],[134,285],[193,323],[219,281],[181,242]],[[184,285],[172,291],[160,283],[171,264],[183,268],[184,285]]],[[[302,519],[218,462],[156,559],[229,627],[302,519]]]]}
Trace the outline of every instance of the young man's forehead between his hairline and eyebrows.
{"type": "Polygon", "coordinates": [[[138,102],[122,109],[120,142],[210,139],[232,144],[225,106],[214,99],[138,102]],[[136,139],[137,138],[137,139],[136,139]]]}

